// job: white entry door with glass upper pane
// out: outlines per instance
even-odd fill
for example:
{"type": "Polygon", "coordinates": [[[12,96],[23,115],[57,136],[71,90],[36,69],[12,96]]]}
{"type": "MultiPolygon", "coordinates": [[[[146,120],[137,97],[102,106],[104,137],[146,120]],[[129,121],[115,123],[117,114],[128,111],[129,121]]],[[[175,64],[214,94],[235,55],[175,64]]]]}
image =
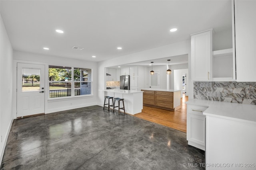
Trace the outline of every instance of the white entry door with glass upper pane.
{"type": "Polygon", "coordinates": [[[44,113],[44,69],[17,63],[17,117],[44,113]]]}

